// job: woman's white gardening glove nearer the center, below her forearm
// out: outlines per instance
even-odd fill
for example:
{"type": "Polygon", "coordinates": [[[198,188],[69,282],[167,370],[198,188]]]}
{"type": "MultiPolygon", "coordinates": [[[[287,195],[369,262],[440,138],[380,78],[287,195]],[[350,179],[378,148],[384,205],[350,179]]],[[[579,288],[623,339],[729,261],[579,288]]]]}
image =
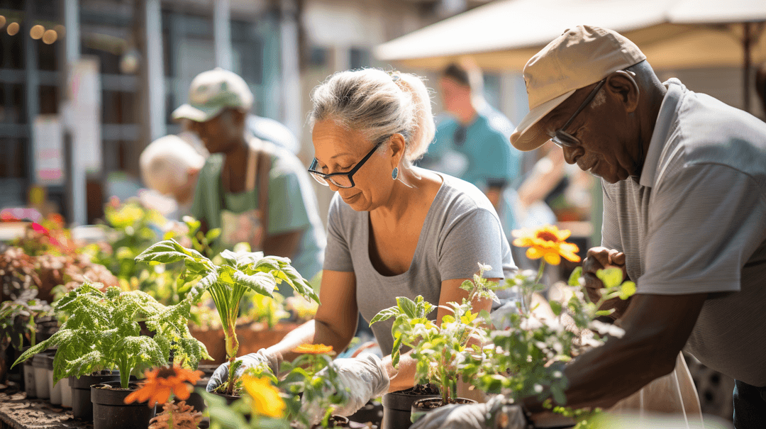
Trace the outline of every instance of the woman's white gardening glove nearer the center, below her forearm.
{"type": "MultiPolygon", "coordinates": [[[[358,358],[336,359],[332,361],[332,367],[338,373],[339,384],[348,391],[349,401],[340,405],[332,414],[349,416],[364,407],[372,398],[377,398],[388,391],[388,372],[381,359],[376,355],[364,355],[358,358]]],[[[327,369],[318,372],[322,376],[327,369]]],[[[332,395],[335,392],[327,392],[332,395]]],[[[301,404],[301,410],[305,411],[311,421],[319,421],[322,418],[322,410],[316,409],[313,404],[301,404]]]]}

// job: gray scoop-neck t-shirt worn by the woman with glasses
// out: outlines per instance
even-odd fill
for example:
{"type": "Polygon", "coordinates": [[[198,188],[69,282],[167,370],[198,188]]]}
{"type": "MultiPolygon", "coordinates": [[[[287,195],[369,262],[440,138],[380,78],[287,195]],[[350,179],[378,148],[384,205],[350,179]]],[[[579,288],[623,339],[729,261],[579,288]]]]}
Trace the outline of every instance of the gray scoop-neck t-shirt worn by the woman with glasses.
{"type": "MultiPolygon", "coordinates": [[[[486,278],[507,278],[516,273],[511,248],[502,234],[492,203],[476,186],[449,175],[426,215],[409,270],[383,276],[369,257],[370,222],[368,211],[354,211],[339,195],[330,203],[325,270],[353,272],[356,303],[368,322],[381,309],[396,305],[397,296],[414,300],[422,295],[439,304],[441,282],[472,278],[478,263],[492,270],[486,278]]],[[[505,298],[507,294],[500,294],[505,298]]],[[[497,308],[493,304],[493,308],[497,308]]],[[[435,320],[437,310],[429,318],[435,320]]],[[[381,350],[391,353],[393,319],[372,325],[381,350]]]]}

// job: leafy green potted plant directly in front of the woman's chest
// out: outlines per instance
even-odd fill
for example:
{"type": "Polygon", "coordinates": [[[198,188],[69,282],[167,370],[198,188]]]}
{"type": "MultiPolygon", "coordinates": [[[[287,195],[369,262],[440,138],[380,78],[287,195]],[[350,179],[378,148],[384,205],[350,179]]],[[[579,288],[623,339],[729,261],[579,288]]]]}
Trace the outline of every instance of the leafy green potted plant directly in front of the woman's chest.
{"type": "Polygon", "coordinates": [[[402,345],[411,347],[412,357],[417,359],[416,382],[437,385],[444,404],[455,403],[457,383],[460,378],[470,377],[470,372],[463,370],[463,362],[472,354],[481,353],[481,344],[486,342],[486,327],[489,325],[489,313],[473,313],[471,303],[477,299],[499,302],[496,290],[500,285],[483,278],[489,267],[479,264],[478,274],[473,281],[466,280],[460,286],[468,291],[468,299],[462,303],[449,303],[452,315],[442,318],[437,324],[427,319],[436,306],[428,303],[423,296],[410,300],[398,296],[397,305],[381,310],[370,322],[376,323],[394,317],[391,334],[394,347],[391,358],[394,367],[398,365],[402,345]],[[473,339],[473,344],[470,340],[473,339]]]}

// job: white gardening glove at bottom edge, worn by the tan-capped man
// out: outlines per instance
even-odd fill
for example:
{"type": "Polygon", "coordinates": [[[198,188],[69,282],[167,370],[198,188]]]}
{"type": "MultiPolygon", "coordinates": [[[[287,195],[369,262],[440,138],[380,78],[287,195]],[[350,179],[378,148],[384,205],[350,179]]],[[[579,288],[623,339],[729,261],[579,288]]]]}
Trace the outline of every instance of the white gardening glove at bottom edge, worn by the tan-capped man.
{"type": "Polygon", "coordinates": [[[428,412],[410,429],[525,429],[522,408],[503,401],[498,395],[483,404],[446,405],[428,412]]]}

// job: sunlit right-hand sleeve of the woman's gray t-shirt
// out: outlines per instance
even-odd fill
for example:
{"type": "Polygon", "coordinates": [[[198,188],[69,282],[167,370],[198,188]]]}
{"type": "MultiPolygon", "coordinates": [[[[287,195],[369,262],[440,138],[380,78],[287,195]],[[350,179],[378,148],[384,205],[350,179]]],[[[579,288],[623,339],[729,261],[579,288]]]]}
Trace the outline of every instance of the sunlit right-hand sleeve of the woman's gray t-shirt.
{"type": "Polygon", "coordinates": [[[474,208],[451,224],[440,241],[439,273],[441,280],[470,279],[479,264],[492,267],[486,278],[503,278],[502,228],[497,215],[486,208],[474,208]]]}

